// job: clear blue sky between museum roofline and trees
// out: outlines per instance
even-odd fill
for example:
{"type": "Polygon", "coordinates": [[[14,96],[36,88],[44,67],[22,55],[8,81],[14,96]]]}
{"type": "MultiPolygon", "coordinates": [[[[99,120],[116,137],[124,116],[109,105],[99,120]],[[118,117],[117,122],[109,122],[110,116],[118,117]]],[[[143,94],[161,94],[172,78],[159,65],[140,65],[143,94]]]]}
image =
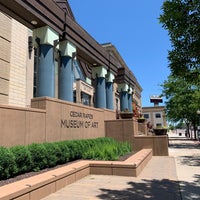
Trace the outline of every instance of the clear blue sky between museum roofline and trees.
{"type": "Polygon", "coordinates": [[[159,23],[164,0],[68,0],[75,19],[98,43],[112,43],[143,88],[142,106],[170,73],[169,36],[159,23]]]}

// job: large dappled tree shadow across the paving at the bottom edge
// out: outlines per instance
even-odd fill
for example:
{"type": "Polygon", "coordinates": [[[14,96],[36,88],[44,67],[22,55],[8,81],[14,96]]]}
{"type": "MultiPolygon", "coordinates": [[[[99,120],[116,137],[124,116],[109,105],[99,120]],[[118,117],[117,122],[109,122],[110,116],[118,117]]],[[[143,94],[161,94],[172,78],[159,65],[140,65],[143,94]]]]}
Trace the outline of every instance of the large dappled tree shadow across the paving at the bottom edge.
{"type": "MultiPolygon", "coordinates": [[[[199,178],[199,175],[198,177],[199,178]]],[[[198,182],[189,183],[181,182],[181,192],[184,194],[185,200],[199,199],[200,190],[197,185],[198,182]],[[189,190],[188,190],[189,189],[189,190]],[[190,191],[190,193],[187,193],[190,191]],[[192,198],[191,198],[192,197],[192,198]]],[[[113,199],[113,200],[181,200],[181,193],[179,189],[179,182],[173,180],[146,180],[142,179],[141,182],[129,182],[126,189],[112,190],[100,189],[102,194],[97,197],[100,199],[113,199]]]]}

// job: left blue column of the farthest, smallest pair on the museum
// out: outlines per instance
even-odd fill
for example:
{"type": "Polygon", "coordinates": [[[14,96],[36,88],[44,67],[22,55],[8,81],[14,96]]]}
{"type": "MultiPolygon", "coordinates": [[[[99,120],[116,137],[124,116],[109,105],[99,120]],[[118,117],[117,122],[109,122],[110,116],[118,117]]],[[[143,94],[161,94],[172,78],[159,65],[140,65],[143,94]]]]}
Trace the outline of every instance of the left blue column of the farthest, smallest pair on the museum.
{"type": "MultiPolygon", "coordinates": [[[[122,83],[118,85],[118,90],[120,93],[120,110],[125,111],[129,110],[128,106],[128,85],[126,83],[122,83]]],[[[129,110],[130,111],[130,110],[129,110]]]]}

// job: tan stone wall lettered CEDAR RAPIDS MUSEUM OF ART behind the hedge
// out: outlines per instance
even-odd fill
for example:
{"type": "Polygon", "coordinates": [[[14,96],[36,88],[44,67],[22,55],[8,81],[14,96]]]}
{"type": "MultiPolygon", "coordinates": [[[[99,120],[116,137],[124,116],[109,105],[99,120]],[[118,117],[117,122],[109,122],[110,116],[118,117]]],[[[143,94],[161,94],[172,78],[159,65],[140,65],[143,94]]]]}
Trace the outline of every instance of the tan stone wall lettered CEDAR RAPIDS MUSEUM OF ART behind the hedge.
{"type": "Polygon", "coordinates": [[[53,98],[32,99],[32,108],[0,105],[0,146],[105,137],[115,112],[53,98]]]}

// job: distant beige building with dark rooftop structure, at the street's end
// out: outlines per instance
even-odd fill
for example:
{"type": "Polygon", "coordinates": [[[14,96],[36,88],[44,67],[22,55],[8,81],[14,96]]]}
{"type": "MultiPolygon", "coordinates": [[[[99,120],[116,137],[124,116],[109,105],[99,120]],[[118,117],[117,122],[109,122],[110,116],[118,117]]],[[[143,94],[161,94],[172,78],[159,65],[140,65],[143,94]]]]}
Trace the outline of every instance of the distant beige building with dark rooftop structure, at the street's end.
{"type": "Polygon", "coordinates": [[[162,103],[163,100],[159,96],[151,96],[150,102],[154,103],[154,106],[143,107],[142,114],[143,117],[153,125],[153,127],[167,126],[165,106],[159,106],[159,103],[162,103]]]}

